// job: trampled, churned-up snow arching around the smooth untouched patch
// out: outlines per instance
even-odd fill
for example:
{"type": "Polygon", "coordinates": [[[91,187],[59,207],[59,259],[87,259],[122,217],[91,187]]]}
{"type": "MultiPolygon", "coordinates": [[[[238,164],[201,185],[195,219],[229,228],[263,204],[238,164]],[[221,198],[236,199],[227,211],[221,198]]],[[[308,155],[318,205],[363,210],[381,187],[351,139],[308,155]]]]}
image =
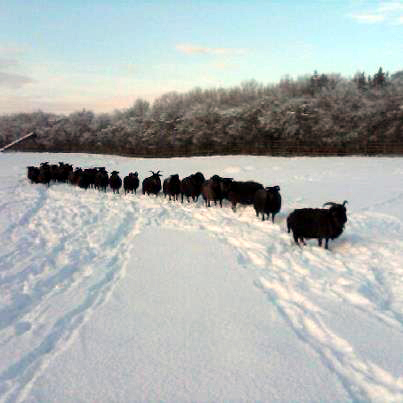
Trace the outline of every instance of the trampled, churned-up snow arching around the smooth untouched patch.
{"type": "Polygon", "coordinates": [[[132,242],[152,226],[206,231],[230,245],[251,284],[267,294],[352,400],[403,399],[403,371],[396,374],[357,351],[348,332],[328,320],[345,305],[350,315],[367,317],[375,328],[384,326],[403,339],[401,222],[374,212],[377,204],[350,214],[345,233],[326,251],[313,241],[302,249],[293,244],[285,231],[287,204],[273,225],[258,220],[250,207],[234,213],[228,205],[207,209],[201,201],[46,188],[25,179],[12,191],[1,190],[1,400],[26,397],[124,278],[132,242]]]}

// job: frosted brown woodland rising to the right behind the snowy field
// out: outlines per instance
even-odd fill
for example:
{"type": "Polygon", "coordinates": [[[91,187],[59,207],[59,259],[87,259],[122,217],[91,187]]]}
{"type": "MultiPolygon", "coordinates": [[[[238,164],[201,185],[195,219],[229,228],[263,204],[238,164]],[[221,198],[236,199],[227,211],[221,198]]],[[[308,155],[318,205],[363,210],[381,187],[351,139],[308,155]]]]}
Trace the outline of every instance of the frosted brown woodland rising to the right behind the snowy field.
{"type": "Polygon", "coordinates": [[[171,92],[125,110],[0,116],[0,147],[186,156],[403,154],[403,70],[346,79],[319,74],[277,84],[171,92]]]}

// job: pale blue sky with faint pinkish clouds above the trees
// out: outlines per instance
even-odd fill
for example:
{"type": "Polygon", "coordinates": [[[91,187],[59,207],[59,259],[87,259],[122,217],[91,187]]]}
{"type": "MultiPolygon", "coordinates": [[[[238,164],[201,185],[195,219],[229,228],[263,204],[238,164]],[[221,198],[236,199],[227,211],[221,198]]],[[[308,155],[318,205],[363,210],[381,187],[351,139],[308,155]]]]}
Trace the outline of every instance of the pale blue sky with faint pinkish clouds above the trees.
{"type": "Polygon", "coordinates": [[[0,0],[0,114],[403,68],[403,0],[0,0]]]}

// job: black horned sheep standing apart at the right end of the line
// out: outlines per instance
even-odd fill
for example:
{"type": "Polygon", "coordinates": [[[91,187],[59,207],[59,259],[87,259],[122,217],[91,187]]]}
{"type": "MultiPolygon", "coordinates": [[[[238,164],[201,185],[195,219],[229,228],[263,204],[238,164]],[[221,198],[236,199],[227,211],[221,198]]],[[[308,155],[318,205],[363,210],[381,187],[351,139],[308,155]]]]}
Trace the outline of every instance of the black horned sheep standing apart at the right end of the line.
{"type": "Polygon", "coordinates": [[[305,244],[304,238],[315,238],[322,246],[325,239],[325,248],[328,249],[329,239],[339,237],[347,222],[346,204],[347,200],[343,204],[325,203],[323,207],[330,206],[328,209],[296,209],[287,217],[288,232],[293,232],[297,245],[299,241],[305,244]]]}

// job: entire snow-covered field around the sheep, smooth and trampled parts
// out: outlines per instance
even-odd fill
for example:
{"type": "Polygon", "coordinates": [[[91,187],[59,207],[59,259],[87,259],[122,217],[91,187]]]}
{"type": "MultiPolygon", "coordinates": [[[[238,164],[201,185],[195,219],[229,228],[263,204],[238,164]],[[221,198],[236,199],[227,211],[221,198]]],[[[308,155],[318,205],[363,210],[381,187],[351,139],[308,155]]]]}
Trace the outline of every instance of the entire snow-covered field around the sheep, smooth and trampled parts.
{"type": "Polygon", "coordinates": [[[403,401],[403,158],[0,155],[0,401],[403,401]],[[280,185],[276,223],[31,185],[42,161],[280,185]],[[330,249],[296,207],[348,200],[330,249]]]}

